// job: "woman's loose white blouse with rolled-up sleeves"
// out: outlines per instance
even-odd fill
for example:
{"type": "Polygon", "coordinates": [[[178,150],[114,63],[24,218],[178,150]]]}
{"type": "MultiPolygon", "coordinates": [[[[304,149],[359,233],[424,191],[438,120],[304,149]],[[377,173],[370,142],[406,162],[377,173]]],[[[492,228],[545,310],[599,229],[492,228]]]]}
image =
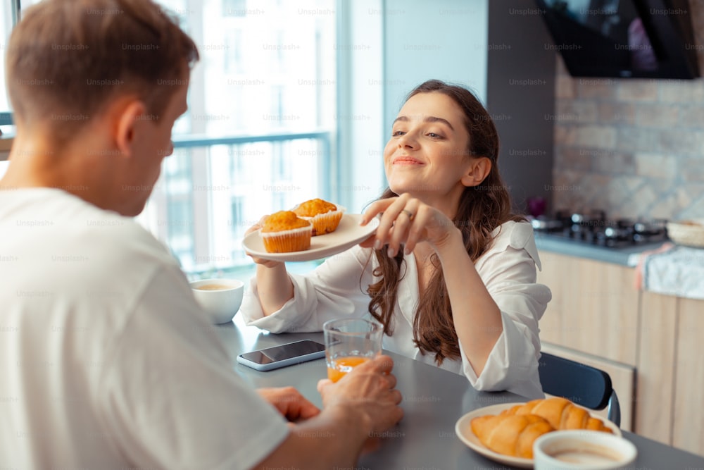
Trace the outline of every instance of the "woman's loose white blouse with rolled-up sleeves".
{"type": "MultiPolygon", "coordinates": [[[[474,266],[494,302],[501,309],[503,333],[477,377],[460,344],[460,359],[445,359],[442,369],[464,374],[477,390],[508,390],[529,398],[543,397],[538,376],[540,339],[538,321],[551,292],[536,284],[540,268],[533,229],[529,223],[509,221],[496,228],[491,247],[474,266]]],[[[358,245],[331,256],[315,271],[304,276],[290,274],[294,297],[269,316],[259,303],[256,278],[251,295],[246,295],[241,312],[248,325],[272,333],[321,331],[322,324],[344,316],[370,317],[366,290],[379,280],[372,272],[378,266],[370,248],[358,245]]],[[[422,354],[413,343],[413,315],[417,307],[418,272],[415,256],[404,256],[403,277],[398,283],[391,336],[384,335],[385,350],[435,364],[434,354],[422,354]]]]}

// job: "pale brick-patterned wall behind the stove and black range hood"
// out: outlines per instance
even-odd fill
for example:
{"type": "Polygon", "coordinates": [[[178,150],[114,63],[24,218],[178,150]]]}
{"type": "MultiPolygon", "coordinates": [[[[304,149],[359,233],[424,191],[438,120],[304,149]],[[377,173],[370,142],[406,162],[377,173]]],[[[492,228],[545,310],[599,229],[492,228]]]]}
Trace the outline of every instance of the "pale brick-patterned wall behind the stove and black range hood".
{"type": "MultiPolygon", "coordinates": [[[[704,44],[704,2],[690,4],[704,44]]],[[[573,78],[558,58],[555,83],[554,209],[704,218],[704,78],[573,78]]]]}

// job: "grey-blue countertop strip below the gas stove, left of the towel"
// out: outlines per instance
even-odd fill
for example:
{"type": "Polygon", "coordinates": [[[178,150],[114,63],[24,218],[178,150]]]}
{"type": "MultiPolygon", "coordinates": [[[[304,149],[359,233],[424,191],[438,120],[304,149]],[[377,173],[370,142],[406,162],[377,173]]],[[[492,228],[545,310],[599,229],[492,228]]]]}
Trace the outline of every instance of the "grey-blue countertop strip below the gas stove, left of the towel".
{"type": "Polygon", "coordinates": [[[604,261],[620,266],[635,267],[638,264],[639,254],[653,249],[658,249],[664,242],[643,243],[623,248],[601,247],[578,240],[551,235],[549,233],[535,232],[535,243],[539,250],[576,256],[579,258],[604,261]]]}

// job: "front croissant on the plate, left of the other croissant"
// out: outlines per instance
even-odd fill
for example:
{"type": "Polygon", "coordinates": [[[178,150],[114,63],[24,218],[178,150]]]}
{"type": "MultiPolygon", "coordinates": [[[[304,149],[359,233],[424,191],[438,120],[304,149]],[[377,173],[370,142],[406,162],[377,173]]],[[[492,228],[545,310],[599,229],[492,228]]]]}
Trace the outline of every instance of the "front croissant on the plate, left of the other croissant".
{"type": "Polygon", "coordinates": [[[470,421],[472,432],[490,450],[511,457],[533,458],[533,442],[555,431],[550,423],[534,414],[487,415],[470,421]]]}

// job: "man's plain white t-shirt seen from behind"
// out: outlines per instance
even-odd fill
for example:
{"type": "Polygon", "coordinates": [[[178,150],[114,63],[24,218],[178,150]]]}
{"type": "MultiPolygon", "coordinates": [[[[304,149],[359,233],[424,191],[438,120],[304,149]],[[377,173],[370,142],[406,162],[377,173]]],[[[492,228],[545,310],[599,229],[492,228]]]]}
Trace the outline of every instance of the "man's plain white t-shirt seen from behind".
{"type": "Polygon", "coordinates": [[[0,469],[246,469],[286,438],[132,219],[6,190],[0,233],[0,469]]]}

